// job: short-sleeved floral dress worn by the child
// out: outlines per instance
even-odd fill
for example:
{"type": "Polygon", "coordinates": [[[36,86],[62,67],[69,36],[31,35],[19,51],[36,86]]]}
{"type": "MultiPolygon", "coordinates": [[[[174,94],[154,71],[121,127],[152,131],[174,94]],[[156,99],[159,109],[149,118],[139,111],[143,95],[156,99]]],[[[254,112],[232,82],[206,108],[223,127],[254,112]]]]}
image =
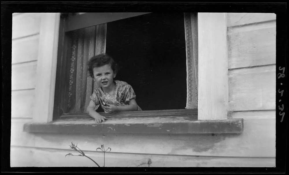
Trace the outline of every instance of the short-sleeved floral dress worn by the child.
{"type": "MultiPolygon", "coordinates": [[[[115,80],[116,86],[113,95],[103,91],[102,87],[94,86],[90,99],[98,106],[104,102],[108,105],[128,106],[131,99],[136,99],[136,94],[127,82],[115,80]]],[[[138,111],[142,109],[138,106],[138,111]]]]}

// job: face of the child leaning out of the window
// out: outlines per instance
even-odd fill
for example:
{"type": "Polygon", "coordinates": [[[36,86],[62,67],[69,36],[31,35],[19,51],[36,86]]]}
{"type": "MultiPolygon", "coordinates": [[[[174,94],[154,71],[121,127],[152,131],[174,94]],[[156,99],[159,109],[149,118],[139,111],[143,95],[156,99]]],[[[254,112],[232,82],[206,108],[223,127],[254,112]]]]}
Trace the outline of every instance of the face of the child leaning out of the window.
{"type": "Polygon", "coordinates": [[[101,67],[93,68],[93,76],[98,86],[107,89],[113,84],[113,79],[116,74],[114,74],[110,65],[106,64],[101,67]]]}

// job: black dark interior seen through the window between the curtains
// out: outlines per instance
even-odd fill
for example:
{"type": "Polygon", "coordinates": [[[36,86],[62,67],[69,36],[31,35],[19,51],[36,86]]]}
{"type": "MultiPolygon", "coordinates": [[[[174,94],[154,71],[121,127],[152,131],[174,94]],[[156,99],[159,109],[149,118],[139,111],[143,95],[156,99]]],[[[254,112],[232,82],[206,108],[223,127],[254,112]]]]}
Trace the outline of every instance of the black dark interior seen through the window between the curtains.
{"type": "Polygon", "coordinates": [[[151,13],[109,22],[106,53],[121,66],[115,80],[133,87],[142,110],[185,109],[183,13],[151,13]]]}

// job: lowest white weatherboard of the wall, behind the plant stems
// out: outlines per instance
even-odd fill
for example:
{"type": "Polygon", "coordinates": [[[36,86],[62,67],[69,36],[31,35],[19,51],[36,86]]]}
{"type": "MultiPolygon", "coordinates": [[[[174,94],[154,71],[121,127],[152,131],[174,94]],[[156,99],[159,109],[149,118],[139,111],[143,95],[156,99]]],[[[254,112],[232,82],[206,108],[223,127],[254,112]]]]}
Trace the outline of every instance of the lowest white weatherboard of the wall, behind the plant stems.
{"type": "MultiPolygon", "coordinates": [[[[74,150],[18,148],[11,149],[11,167],[96,167],[86,157],[67,156],[77,154],[74,150]],[[20,158],[18,157],[20,155],[20,158]]],[[[103,153],[99,151],[84,152],[91,159],[103,166],[103,153]]],[[[179,156],[149,155],[128,153],[105,153],[105,167],[137,167],[151,159],[150,167],[273,167],[275,158],[260,157],[216,157],[216,156],[179,156]]]]}

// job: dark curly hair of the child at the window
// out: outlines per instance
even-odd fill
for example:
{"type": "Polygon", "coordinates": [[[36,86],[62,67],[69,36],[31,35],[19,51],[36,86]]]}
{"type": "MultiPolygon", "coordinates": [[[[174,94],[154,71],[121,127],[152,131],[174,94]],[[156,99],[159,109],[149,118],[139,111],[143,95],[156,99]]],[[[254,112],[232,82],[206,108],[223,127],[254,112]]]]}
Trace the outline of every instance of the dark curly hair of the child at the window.
{"type": "Polygon", "coordinates": [[[101,67],[104,65],[110,65],[111,69],[113,70],[114,74],[117,74],[119,71],[118,64],[110,57],[108,54],[99,54],[94,57],[91,57],[88,61],[88,76],[94,78],[93,76],[93,69],[95,67],[101,67]]]}

